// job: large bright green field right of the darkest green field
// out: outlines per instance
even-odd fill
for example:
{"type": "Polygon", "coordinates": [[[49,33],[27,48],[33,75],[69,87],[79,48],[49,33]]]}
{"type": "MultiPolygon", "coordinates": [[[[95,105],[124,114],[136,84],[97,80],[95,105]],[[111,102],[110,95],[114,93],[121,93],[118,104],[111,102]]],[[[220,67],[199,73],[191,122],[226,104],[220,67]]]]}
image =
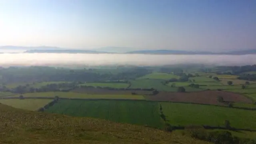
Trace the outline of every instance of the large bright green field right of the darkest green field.
{"type": "Polygon", "coordinates": [[[256,111],[171,102],[161,102],[161,105],[171,125],[223,126],[224,121],[229,120],[234,128],[256,130],[256,111]]]}

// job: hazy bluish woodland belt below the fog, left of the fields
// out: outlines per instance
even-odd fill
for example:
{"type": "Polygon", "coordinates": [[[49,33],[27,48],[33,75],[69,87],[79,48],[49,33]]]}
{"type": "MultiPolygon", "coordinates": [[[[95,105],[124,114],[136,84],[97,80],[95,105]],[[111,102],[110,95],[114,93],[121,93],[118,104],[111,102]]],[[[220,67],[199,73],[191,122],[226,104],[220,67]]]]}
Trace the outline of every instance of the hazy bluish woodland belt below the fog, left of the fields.
{"type": "MultiPolygon", "coordinates": [[[[106,70],[108,71],[108,70],[106,70]]],[[[132,67],[124,70],[118,70],[116,73],[112,72],[98,72],[97,70],[77,69],[70,70],[64,68],[52,68],[42,66],[30,67],[10,67],[0,69],[2,75],[2,82],[17,83],[17,82],[47,82],[47,81],[85,81],[96,82],[106,80],[130,80],[140,76],[151,73],[143,67],[132,67]]]]}

